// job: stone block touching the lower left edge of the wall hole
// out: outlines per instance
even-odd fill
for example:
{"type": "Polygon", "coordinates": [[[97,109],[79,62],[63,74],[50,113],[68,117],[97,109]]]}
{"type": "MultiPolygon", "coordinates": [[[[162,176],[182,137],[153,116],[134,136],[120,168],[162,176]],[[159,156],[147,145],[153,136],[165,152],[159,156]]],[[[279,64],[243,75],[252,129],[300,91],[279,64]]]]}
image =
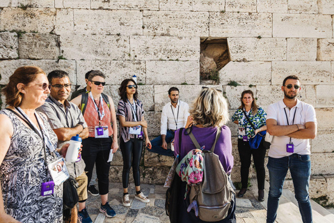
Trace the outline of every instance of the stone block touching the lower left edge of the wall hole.
{"type": "Polygon", "coordinates": [[[199,70],[198,61],[147,61],[146,84],[200,84],[199,70]]]}

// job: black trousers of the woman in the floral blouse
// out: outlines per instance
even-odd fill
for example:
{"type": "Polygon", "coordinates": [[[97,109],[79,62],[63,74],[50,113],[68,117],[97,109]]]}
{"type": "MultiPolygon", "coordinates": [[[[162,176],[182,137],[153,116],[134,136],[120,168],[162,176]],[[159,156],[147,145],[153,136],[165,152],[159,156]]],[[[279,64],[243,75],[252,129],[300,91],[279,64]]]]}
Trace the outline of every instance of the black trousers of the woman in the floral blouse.
{"type": "Polygon", "coordinates": [[[248,185],[249,167],[251,156],[253,154],[257,177],[257,188],[259,190],[264,190],[264,178],[266,177],[266,171],[264,170],[264,156],[266,155],[266,149],[262,148],[261,144],[257,149],[250,149],[248,141],[238,139],[238,151],[241,162],[242,188],[247,188],[248,185]]]}

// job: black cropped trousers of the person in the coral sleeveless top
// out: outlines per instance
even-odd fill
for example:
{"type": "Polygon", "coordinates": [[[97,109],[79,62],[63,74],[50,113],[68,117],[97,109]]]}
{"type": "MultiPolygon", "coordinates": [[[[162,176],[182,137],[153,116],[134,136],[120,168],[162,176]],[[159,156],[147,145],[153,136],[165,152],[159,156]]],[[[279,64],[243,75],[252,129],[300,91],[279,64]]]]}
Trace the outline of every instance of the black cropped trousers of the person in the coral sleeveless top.
{"type": "Polygon", "coordinates": [[[82,158],[85,161],[88,177],[88,185],[92,178],[94,164],[96,166],[97,183],[99,185],[99,192],[101,195],[108,194],[109,192],[109,162],[106,162],[109,158],[109,152],[111,150],[111,144],[113,140],[111,137],[95,139],[94,137],[88,137],[82,141],[82,158]]]}

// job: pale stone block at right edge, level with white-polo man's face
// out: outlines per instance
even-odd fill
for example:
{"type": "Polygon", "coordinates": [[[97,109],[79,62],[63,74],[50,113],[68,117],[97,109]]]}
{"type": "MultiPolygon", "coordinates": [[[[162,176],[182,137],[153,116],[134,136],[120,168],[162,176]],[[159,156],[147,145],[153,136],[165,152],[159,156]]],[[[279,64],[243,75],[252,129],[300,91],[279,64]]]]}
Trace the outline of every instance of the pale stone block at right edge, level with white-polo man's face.
{"type": "Polygon", "coordinates": [[[333,85],[317,85],[317,107],[334,107],[333,85]]]}

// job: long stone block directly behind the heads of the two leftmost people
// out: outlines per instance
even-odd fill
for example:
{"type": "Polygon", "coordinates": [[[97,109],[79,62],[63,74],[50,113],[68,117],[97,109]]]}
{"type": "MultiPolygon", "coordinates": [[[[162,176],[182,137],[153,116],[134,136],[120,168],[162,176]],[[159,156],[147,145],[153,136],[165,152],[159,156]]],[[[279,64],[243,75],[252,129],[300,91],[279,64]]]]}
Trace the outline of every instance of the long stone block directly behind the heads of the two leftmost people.
{"type": "Polygon", "coordinates": [[[38,66],[47,74],[52,70],[64,70],[70,76],[71,83],[76,83],[76,66],[75,61],[67,60],[7,60],[0,61],[0,84],[8,84],[10,75],[21,66],[38,66]]]}

